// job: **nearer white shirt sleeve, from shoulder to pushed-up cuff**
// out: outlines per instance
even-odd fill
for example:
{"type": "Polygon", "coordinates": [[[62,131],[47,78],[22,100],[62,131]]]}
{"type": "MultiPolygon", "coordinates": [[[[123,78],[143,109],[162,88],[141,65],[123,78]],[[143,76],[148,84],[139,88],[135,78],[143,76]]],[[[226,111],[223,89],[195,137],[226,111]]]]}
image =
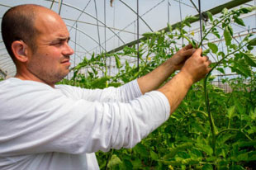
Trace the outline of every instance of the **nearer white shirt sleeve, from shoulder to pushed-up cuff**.
{"type": "Polygon", "coordinates": [[[131,148],[170,112],[168,99],[157,91],[129,102],[73,100],[50,89],[21,94],[11,97],[12,107],[1,106],[2,113],[12,113],[1,119],[2,155],[131,148]]]}

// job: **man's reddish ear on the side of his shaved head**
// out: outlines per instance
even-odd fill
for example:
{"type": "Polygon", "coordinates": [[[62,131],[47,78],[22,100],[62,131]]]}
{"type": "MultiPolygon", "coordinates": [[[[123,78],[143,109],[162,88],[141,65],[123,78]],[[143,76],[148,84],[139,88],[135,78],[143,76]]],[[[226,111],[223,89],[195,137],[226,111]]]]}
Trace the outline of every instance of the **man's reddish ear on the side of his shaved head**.
{"type": "Polygon", "coordinates": [[[15,40],[12,42],[12,53],[14,57],[21,63],[27,61],[27,48],[28,46],[22,40],[15,40]]]}

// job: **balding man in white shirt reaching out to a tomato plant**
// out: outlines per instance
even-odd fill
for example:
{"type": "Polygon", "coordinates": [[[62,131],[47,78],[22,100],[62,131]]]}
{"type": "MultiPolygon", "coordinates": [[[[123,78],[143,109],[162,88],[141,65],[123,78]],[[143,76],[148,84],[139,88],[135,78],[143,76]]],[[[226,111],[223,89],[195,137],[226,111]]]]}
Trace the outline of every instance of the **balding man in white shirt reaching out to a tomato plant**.
{"type": "Polygon", "coordinates": [[[187,45],[122,87],[55,86],[69,73],[69,31],[57,13],[37,5],[9,9],[2,39],[17,74],[0,83],[0,169],[98,169],[94,152],[135,146],[211,70],[201,49],[187,45]]]}

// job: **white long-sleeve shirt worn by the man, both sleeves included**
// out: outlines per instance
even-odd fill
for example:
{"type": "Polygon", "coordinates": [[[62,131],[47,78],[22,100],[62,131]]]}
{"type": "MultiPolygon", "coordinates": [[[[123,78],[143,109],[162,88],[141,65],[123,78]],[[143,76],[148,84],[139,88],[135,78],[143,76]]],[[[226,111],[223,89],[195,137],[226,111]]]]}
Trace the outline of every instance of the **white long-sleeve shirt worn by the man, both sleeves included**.
{"type": "Polygon", "coordinates": [[[88,90],[9,78],[0,82],[0,169],[99,169],[94,152],[131,148],[169,116],[161,92],[137,81],[88,90]]]}

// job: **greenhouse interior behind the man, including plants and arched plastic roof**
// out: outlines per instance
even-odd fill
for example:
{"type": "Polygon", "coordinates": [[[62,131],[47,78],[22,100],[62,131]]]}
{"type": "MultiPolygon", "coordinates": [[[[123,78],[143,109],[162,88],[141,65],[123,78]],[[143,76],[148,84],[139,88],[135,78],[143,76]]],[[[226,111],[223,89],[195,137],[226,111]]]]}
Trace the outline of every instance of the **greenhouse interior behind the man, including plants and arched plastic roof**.
{"type": "MultiPolygon", "coordinates": [[[[256,169],[256,0],[1,0],[0,21],[25,3],[68,27],[74,54],[60,83],[119,87],[187,44],[212,61],[164,125],[133,149],[98,152],[100,168],[256,169]]],[[[15,74],[1,36],[0,79],[15,74]]]]}

